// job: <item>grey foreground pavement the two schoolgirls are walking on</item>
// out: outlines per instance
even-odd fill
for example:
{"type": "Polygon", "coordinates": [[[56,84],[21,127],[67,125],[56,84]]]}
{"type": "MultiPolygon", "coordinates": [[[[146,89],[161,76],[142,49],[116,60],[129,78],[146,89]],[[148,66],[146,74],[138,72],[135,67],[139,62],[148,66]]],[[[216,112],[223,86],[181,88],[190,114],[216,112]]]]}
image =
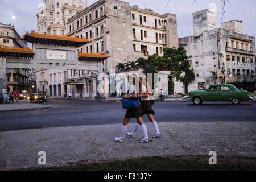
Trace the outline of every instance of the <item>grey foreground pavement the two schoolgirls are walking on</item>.
{"type": "MultiPolygon", "coordinates": [[[[132,119],[128,130],[133,130],[132,119]]],[[[140,156],[208,155],[216,151],[226,156],[256,156],[256,133],[245,122],[164,122],[158,123],[162,137],[146,123],[150,143],[139,143],[142,130],[135,138],[114,141],[122,123],[114,125],[72,126],[0,133],[0,169],[36,167],[38,152],[46,152],[47,166],[67,162],[98,162],[140,156]]]]}

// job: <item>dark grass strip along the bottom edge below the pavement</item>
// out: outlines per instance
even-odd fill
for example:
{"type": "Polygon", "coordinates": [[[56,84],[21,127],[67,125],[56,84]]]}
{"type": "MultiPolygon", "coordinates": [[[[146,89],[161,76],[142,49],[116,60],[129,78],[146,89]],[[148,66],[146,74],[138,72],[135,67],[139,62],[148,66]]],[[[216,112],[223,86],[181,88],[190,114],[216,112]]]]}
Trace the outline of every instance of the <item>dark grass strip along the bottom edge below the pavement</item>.
{"type": "Polygon", "coordinates": [[[20,170],[43,171],[225,171],[256,170],[256,158],[217,156],[217,165],[209,165],[210,156],[143,157],[109,160],[97,163],[78,162],[62,166],[36,167],[20,170]]]}

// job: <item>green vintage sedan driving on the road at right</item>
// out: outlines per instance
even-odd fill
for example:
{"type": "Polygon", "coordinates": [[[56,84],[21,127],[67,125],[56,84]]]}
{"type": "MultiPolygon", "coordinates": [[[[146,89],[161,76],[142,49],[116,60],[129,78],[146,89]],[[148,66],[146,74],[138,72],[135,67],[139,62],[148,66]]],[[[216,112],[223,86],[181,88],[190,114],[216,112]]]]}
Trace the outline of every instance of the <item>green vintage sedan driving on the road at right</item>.
{"type": "Polygon", "coordinates": [[[253,100],[250,92],[238,90],[232,84],[214,84],[206,90],[196,90],[188,93],[188,100],[194,104],[202,104],[204,101],[231,101],[233,104],[240,104],[240,101],[253,100]]]}

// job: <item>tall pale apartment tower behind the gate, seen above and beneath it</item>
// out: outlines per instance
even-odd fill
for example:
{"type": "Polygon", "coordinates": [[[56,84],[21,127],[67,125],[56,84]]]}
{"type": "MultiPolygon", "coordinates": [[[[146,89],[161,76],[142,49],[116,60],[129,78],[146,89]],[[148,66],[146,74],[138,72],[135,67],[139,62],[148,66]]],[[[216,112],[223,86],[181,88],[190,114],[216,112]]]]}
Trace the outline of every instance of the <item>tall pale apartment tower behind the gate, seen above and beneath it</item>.
{"type": "MultiPolygon", "coordinates": [[[[38,10],[37,24],[39,34],[65,35],[65,24],[68,19],[76,15],[87,6],[87,0],[44,0],[44,6],[38,10]]],[[[37,89],[46,91],[50,97],[67,97],[68,70],[45,69],[36,72],[37,89]]],[[[76,75],[76,73],[73,73],[76,75]]]]}

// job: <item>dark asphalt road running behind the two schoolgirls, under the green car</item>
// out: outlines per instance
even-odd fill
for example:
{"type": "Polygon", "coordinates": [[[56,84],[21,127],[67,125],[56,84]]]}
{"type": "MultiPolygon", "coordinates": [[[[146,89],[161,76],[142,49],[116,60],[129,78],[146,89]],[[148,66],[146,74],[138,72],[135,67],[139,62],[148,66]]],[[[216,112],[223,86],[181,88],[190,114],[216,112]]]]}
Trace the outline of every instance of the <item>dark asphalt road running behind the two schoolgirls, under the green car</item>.
{"type": "MultiPolygon", "coordinates": [[[[37,129],[46,127],[106,125],[122,123],[125,110],[121,102],[49,100],[52,109],[7,111],[0,113],[0,131],[37,129]]],[[[256,128],[256,103],[241,102],[156,102],[153,105],[157,122],[245,121],[256,128]]],[[[144,122],[149,122],[144,117],[144,122]]],[[[135,119],[131,119],[131,123],[135,119]]]]}

